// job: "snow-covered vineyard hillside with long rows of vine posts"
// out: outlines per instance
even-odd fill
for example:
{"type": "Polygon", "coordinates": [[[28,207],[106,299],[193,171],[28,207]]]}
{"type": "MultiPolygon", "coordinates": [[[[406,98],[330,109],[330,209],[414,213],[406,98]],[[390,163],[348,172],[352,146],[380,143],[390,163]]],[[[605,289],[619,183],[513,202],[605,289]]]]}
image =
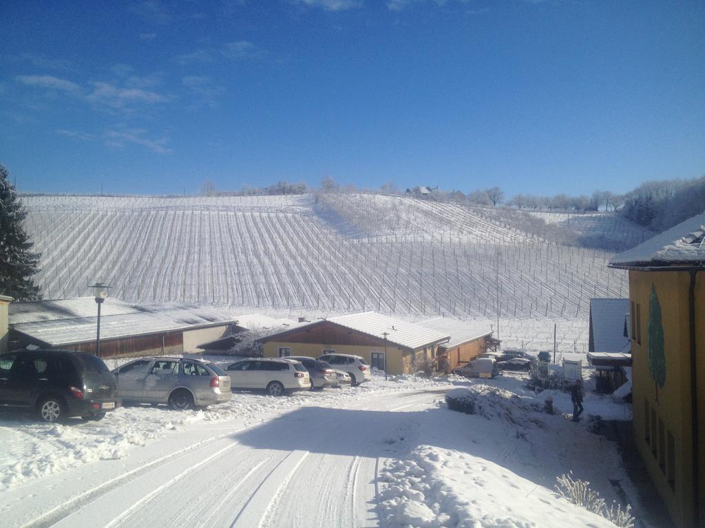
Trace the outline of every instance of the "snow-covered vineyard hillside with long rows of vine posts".
{"type": "MultiPolygon", "coordinates": [[[[102,280],[140,303],[584,322],[590,297],[627,294],[611,253],[555,244],[490,209],[362,193],[23,201],[45,298],[102,280]]],[[[582,222],[643,237],[630,226],[582,222]]]]}

